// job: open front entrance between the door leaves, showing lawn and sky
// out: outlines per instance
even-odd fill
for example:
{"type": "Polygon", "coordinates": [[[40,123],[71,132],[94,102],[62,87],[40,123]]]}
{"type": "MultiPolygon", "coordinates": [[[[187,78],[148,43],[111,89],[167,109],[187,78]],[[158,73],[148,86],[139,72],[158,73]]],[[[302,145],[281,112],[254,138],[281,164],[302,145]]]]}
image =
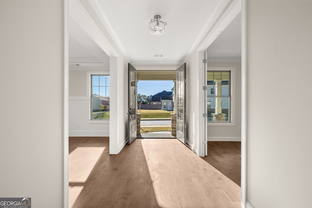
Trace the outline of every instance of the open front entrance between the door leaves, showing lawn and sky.
{"type": "Polygon", "coordinates": [[[137,71],[137,137],[176,138],[176,71],[137,71]]]}

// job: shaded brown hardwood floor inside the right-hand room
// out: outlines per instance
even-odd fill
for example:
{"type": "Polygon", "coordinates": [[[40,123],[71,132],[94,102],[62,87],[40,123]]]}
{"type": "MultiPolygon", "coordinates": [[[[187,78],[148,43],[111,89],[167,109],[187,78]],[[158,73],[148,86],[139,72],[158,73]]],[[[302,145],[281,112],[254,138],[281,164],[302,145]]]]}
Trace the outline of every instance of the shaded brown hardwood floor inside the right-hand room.
{"type": "Polygon", "coordinates": [[[202,157],[240,186],[241,142],[208,142],[208,156],[202,157]]]}

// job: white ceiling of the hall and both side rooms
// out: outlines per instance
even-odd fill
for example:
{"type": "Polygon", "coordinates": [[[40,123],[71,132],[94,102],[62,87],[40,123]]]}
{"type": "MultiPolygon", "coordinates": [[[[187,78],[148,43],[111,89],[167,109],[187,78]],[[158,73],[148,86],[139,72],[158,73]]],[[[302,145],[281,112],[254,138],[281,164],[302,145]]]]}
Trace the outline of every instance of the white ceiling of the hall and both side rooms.
{"type": "MultiPolygon", "coordinates": [[[[221,1],[98,0],[97,5],[130,63],[169,66],[185,61],[190,50],[203,38],[207,22],[221,1]],[[148,30],[148,23],[156,14],[167,22],[161,36],[152,35],[148,30]]],[[[71,18],[69,34],[70,69],[76,70],[76,64],[91,62],[109,67],[109,57],[71,18]]],[[[240,57],[240,17],[223,30],[208,53],[212,57],[240,57]]]]}

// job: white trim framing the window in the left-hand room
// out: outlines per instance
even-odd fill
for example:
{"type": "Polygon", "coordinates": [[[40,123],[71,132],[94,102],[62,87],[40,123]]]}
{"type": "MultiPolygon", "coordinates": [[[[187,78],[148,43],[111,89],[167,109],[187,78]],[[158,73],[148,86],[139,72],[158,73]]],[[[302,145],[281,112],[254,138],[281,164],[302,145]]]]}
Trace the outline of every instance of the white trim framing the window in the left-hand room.
{"type": "MultiPolygon", "coordinates": [[[[100,72],[100,71],[87,71],[87,99],[88,99],[88,120],[90,124],[109,124],[109,119],[99,119],[92,120],[91,119],[91,75],[106,75],[109,76],[108,72],[100,72]]],[[[111,91],[111,88],[109,89],[111,91]]],[[[111,95],[111,92],[109,93],[111,95]]]]}

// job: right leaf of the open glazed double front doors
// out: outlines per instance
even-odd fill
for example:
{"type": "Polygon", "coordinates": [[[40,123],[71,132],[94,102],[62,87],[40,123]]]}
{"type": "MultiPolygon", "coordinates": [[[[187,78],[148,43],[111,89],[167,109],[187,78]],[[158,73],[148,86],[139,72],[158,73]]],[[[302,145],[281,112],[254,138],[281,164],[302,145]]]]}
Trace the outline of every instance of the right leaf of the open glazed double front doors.
{"type": "Polygon", "coordinates": [[[176,96],[177,96],[177,116],[176,116],[176,138],[185,144],[186,137],[186,63],[176,70],[176,96]]]}

